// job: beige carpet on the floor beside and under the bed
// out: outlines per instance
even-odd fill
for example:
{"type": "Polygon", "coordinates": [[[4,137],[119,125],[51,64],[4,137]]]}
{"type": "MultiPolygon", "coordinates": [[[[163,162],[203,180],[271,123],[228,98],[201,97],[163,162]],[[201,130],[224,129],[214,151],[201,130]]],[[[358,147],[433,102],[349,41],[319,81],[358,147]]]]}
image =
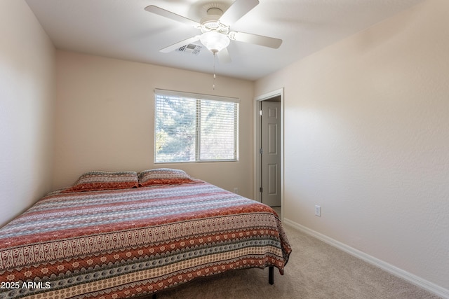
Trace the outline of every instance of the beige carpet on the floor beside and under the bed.
{"type": "Polygon", "coordinates": [[[284,228],[293,252],[283,276],[274,268],[274,285],[268,284],[268,269],[236,270],[163,291],[157,298],[439,298],[295,228],[284,228]]]}

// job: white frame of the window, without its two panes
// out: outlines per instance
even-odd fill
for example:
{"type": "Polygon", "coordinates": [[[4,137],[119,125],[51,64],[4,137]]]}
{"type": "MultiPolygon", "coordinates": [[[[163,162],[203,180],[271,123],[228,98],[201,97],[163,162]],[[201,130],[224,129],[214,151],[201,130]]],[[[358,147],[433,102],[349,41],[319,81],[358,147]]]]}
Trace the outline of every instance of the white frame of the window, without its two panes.
{"type": "Polygon", "coordinates": [[[202,163],[202,162],[238,162],[239,161],[239,112],[240,99],[236,97],[222,97],[217,95],[204,95],[192,92],[180,92],[174,90],[154,89],[154,164],[175,164],[175,163],[202,163]],[[157,97],[178,97],[196,100],[195,116],[195,160],[190,161],[157,161],[156,160],[156,128],[157,128],[157,97]],[[233,159],[201,159],[201,100],[217,102],[232,102],[236,104],[234,119],[234,158],[233,159]],[[198,112],[200,111],[200,112],[198,112]]]}

